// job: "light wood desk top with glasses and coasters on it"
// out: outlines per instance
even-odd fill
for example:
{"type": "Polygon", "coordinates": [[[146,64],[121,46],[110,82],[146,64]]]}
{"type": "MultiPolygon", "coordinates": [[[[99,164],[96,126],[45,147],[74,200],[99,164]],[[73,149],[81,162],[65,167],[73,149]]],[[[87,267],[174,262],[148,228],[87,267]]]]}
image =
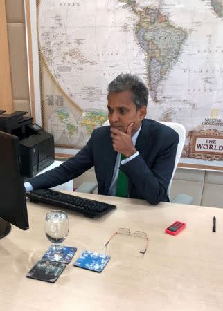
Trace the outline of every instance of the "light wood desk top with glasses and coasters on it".
{"type": "Polygon", "coordinates": [[[98,219],[69,214],[64,245],[78,247],[55,283],[26,278],[44,254],[44,216],[52,209],[28,203],[30,229],[0,241],[0,303],[7,311],[212,311],[223,310],[223,209],[81,194],[117,205],[98,219]],[[217,232],[212,232],[213,216],[217,232]],[[178,236],[164,233],[175,220],[187,223],[178,236]],[[101,273],[73,267],[84,249],[105,252],[103,244],[118,227],[148,232],[143,257],[140,238],[115,236],[107,247],[111,259],[101,273]]]}

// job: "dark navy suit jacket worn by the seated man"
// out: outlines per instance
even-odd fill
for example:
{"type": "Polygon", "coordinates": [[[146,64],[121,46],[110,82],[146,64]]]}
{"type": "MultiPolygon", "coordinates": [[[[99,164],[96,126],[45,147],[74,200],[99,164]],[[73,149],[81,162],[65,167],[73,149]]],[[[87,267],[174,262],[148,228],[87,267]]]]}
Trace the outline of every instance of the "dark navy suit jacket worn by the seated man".
{"type": "MultiPolygon", "coordinates": [[[[128,176],[130,198],[148,200],[150,204],[169,201],[166,191],[175,165],[178,134],[170,127],[144,119],[136,141],[139,156],[121,165],[128,176]]],[[[93,131],[87,145],[60,167],[29,180],[34,189],[50,188],[80,176],[95,167],[98,194],[108,194],[117,152],[112,147],[110,126],[93,131]]]]}

